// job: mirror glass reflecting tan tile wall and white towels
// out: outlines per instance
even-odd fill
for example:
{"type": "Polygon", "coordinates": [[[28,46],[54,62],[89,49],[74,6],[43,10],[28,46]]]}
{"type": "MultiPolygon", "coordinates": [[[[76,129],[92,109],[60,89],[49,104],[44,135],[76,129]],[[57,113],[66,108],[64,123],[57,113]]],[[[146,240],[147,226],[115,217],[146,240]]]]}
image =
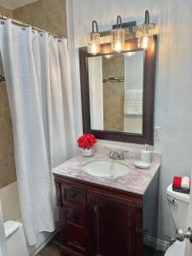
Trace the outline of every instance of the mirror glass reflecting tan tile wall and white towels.
{"type": "Polygon", "coordinates": [[[91,129],[143,134],[144,55],[88,57],[91,129]]]}

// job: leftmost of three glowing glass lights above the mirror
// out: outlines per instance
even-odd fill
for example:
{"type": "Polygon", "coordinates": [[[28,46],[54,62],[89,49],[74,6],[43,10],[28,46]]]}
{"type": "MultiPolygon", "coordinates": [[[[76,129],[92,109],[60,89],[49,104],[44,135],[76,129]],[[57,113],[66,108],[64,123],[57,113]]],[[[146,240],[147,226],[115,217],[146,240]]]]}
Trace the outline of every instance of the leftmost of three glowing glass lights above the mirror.
{"type": "Polygon", "coordinates": [[[98,32],[98,26],[96,20],[92,21],[92,32],[90,32],[88,37],[88,53],[91,55],[97,55],[100,53],[100,34],[98,32]],[[96,26],[96,32],[94,29],[96,26]]]}

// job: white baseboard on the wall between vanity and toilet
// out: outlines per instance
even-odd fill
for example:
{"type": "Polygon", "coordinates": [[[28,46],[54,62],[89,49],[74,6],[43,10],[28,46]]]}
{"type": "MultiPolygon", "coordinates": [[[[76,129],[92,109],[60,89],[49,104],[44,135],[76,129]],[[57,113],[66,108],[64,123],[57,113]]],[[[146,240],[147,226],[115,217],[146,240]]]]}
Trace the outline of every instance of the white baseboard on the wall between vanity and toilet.
{"type": "Polygon", "coordinates": [[[145,236],[143,240],[144,244],[148,245],[149,247],[154,247],[155,249],[162,252],[166,252],[167,247],[170,246],[170,243],[168,241],[156,239],[152,236],[145,236]]]}

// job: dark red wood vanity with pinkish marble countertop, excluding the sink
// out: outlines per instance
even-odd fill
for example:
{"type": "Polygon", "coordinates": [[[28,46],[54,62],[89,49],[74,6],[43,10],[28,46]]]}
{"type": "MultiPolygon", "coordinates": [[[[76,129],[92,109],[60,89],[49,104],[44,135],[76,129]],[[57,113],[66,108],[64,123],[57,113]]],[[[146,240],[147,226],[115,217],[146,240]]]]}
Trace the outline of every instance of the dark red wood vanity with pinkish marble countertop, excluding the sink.
{"type": "Polygon", "coordinates": [[[113,165],[106,150],[90,158],[78,155],[53,170],[61,252],[141,256],[143,236],[154,239],[157,232],[160,155],[153,154],[148,170],[137,169],[134,158],[115,160],[129,169],[120,177],[84,172],[87,163],[98,160],[113,165]]]}

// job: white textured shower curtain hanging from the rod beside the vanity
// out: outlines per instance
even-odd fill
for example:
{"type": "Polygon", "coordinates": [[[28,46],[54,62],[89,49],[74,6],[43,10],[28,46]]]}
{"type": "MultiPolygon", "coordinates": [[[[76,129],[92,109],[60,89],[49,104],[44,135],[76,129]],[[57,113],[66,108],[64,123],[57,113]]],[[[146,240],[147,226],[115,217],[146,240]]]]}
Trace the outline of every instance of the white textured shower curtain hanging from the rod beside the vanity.
{"type": "Polygon", "coordinates": [[[0,50],[15,139],[15,164],[26,236],[35,244],[55,230],[51,168],[76,152],[67,40],[31,27],[0,25],[0,50]]]}

